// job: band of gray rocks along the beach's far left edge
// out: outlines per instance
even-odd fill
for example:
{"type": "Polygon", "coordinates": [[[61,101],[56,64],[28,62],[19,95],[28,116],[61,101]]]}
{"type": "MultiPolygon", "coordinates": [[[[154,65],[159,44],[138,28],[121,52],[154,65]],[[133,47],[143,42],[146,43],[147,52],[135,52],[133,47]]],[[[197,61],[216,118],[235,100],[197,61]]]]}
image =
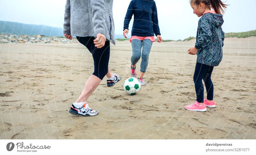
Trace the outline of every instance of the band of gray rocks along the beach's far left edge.
{"type": "Polygon", "coordinates": [[[15,35],[15,34],[0,34],[0,43],[53,43],[53,44],[67,44],[67,43],[77,43],[77,39],[74,37],[72,40],[68,40],[64,37],[46,37],[42,35],[15,35]]]}

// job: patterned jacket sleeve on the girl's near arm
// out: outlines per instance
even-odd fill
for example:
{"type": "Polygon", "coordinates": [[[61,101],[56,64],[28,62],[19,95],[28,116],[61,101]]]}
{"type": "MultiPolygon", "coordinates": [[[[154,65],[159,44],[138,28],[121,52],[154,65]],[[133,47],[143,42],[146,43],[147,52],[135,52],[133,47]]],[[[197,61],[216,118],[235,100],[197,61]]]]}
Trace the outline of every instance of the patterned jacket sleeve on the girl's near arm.
{"type": "Polygon", "coordinates": [[[196,49],[204,48],[212,38],[210,24],[208,23],[207,19],[202,18],[198,26],[199,29],[198,36],[196,38],[196,49]]]}

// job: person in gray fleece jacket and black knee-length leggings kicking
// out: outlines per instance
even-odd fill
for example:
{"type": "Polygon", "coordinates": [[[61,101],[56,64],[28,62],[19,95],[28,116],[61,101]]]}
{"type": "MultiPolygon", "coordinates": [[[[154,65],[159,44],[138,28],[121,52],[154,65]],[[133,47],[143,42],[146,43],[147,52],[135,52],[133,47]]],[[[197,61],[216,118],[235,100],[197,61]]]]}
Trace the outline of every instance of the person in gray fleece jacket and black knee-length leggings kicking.
{"type": "Polygon", "coordinates": [[[114,86],[121,80],[108,69],[110,42],[115,45],[115,27],[112,14],[113,0],[67,0],[65,6],[63,33],[68,39],[76,36],[91,53],[94,72],[86,81],[84,90],[74,102],[69,113],[81,116],[95,116],[87,99],[107,76],[107,86],[114,86]]]}

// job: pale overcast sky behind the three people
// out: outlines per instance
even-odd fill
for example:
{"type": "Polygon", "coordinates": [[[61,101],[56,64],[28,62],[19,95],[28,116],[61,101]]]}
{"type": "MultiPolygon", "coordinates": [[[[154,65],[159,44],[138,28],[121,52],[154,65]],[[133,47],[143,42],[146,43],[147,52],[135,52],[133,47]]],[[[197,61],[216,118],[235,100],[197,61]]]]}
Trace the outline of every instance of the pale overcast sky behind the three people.
{"type": "MultiPolygon", "coordinates": [[[[116,34],[123,33],[129,3],[130,0],[114,0],[116,34]]],[[[66,0],[1,0],[0,20],[62,27],[65,4],[66,0]]],[[[224,32],[256,30],[256,0],[227,0],[226,4],[230,6],[223,17],[224,32]]],[[[163,39],[178,40],[196,36],[199,18],[193,14],[188,0],[156,0],[156,6],[163,39]]]]}

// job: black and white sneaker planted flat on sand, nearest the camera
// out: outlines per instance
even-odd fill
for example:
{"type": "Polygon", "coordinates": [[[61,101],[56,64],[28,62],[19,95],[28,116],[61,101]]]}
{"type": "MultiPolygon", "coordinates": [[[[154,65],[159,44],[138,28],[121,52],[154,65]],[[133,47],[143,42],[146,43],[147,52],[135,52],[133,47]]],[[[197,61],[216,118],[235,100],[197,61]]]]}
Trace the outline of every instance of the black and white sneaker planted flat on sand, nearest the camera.
{"type": "Polygon", "coordinates": [[[69,113],[73,115],[81,116],[95,116],[98,111],[92,110],[86,102],[83,103],[73,103],[69,109],[69,113]]]}

